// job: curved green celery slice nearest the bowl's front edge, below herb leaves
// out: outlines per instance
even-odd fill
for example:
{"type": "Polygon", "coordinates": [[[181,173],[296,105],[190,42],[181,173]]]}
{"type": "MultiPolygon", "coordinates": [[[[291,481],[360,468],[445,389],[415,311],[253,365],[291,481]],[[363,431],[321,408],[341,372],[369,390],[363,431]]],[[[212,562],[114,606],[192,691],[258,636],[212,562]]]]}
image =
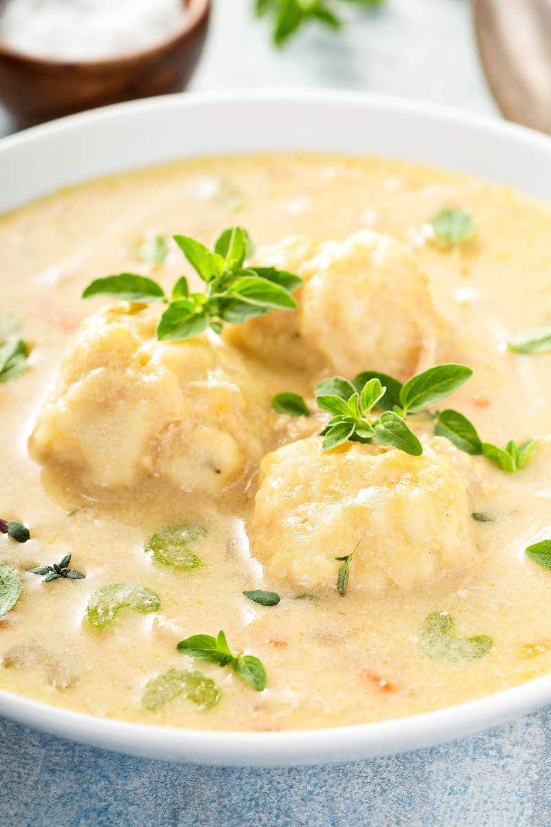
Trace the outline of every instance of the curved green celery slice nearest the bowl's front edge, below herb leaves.
{"type": "Polygon", "coordinates": [[[141,696],[145,710],[159,710],[170,700],[184,696],[199,709],[210,710],[220,700],[221,692],[210,677],[194,669],[169,669],[147,681],[141,696]]]}

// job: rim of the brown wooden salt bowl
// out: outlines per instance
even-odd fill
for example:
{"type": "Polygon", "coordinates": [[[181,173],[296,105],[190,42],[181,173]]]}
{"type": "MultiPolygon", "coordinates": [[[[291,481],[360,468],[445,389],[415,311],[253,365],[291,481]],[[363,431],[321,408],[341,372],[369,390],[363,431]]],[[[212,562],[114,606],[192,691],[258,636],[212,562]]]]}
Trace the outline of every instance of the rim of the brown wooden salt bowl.
{"type": "Polygon", "coordinates": [[[175,26],[173,31],[164,37],[163,40],[155,41],[153,45],[145,47],[144,49],[122,52],[120,55],[100,59],[78,60],[74,58],[63,58],[62,60],[56,60],[54,57],[43,57],[19,49],[13,49],[11,46],[3,43],[2,38],[0,38],[0,60],[11,60],[27,68],[32,67],[32,69],[35,70],[50,69],[55,72],[64,69],[68,71],[90,70],[90,72],[105,72],[110,69],[119,71],[126,67],[130,69],[133,65],[140,64],[142,60],[160,59],[166,51],[172,50],[180,43],[183,43],[211,12],[212,0],[183,0],[183,3],[185,3],[187,9],[186,13],[183,14],[182,22],[178,26],[175,26]]]}

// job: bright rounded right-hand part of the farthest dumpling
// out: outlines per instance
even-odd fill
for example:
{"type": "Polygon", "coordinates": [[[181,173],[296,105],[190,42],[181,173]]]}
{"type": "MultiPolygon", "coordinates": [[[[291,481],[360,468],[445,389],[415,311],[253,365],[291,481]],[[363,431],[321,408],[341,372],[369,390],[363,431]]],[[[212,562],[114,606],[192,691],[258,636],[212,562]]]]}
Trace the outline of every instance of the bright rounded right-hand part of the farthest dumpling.
{"type": "Polygon", "coordinates": [[[300,332],[337,373],[379,370],[406,380],[433,363],[429,283],[400,241],[370,230],[327,241],[300,275],[300,332]]]}

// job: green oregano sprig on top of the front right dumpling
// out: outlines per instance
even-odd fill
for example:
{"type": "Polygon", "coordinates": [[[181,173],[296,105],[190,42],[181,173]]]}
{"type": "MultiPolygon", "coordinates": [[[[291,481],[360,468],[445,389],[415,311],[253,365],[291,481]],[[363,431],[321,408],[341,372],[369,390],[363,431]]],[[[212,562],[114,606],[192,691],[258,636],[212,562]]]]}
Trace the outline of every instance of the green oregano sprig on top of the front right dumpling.
{"type": "MultiPolygon", "coordinates": [[[[453,394],[471,375],[473,370],[465,365],[446,364],[412,376],[405,385],[392,376],[369,370],[357,375],[352,382],[342,376],[323,380],[316,387],[316,404],[331,414],[321,432],[325,437],[323,450],[329,451],[347,440],[378,442],[419,457],[423,447],[406,424],[406,416],[418,414],[453,394]],[[382,414],[375,416],[373,409],[382,414]]],[[[304,411],[308,411],[306,402],[298,394],[277,394],[272,407],[292,416],[305,415],[304,411]],[[289,397],[288,404],[285,397],[289,397]]]]}

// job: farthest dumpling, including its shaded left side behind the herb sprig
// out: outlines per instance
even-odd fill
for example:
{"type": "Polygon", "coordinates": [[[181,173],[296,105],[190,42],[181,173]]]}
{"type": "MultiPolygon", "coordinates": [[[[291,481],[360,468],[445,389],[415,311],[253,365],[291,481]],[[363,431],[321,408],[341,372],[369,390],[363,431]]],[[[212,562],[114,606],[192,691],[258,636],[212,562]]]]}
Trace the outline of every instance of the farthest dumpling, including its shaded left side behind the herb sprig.
{"type": "Polygon", "coordinates": [[[299,275],[297,310],[273,310],[228,341],[269,361],[349,378],[378,370],[405,380],[434,361],[439,320],[416,255],[397,239],[361,230],[316,244],[287,237],[256,263],[299,275]]]}

